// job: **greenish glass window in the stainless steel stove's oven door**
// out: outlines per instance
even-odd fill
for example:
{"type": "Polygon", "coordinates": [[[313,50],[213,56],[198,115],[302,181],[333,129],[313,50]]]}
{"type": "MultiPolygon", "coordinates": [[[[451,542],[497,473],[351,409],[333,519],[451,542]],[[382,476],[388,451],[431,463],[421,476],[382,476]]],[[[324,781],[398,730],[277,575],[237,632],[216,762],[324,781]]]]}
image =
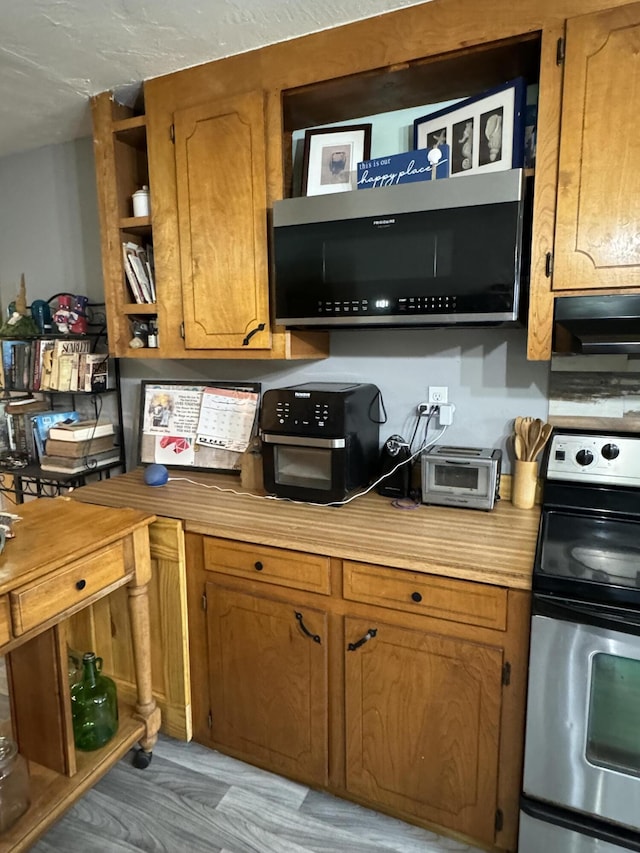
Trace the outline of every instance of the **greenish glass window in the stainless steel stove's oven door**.
{"type": "Polygon", "coordinates": [[[599,652],[591,668],[587,760],[640,776],[640,660],[599,652]]]}

